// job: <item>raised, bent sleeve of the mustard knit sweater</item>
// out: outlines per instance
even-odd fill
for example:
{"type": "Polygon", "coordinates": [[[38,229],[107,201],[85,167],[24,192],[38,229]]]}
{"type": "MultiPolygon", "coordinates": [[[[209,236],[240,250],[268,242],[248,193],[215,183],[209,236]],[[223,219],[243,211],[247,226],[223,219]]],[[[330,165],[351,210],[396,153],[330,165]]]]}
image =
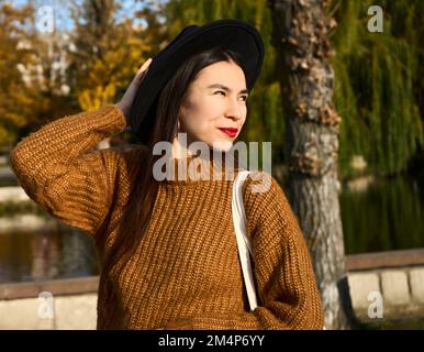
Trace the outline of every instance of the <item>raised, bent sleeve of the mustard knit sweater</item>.
{"type": "Polygon", "coordinates": [[[55,120],[15,145],[12,169],[48,213],[94,235],[110,207],[119,152],[89,150],[125,125],[114,105],[55,120]]]}

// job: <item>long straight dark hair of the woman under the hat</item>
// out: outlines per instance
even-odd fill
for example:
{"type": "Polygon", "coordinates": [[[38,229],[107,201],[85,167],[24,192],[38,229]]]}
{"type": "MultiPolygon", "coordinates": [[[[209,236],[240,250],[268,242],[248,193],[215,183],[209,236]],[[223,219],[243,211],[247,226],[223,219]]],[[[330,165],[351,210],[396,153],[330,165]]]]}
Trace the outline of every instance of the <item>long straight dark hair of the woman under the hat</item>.
{"type": "MultiPolygon", "coordinates": [[[[125,263],[133,255],[143,234],[148,229],[159,187],[158,182],[153,177],[153,165],[160,155],[152,153],[153,146],[160,141],[172,143],[177,136],[180,107],[189,94],[190,84],[196,80],[199,72],[214,63],[231,61],[237,64],[246,75],[243,57],[238,53],[213,47],[187,59],[160,91],[152,134],[145,145],[146,153],[143,154],[143,161],[141,161],[143,167],[140,167],[137,182],[131,185],[130,197],[120,219],[118,238],[109,255],[101,257],[101,270],[107,275],[119,263],[122,265],[116,270],[121,275],[125,263]]],[[[98,234],[97,242],[104,249],[108,235],[105,229],[103,233],[98,234]]],[[[104,253],[104,250],[102,252],[104,253]]]]}

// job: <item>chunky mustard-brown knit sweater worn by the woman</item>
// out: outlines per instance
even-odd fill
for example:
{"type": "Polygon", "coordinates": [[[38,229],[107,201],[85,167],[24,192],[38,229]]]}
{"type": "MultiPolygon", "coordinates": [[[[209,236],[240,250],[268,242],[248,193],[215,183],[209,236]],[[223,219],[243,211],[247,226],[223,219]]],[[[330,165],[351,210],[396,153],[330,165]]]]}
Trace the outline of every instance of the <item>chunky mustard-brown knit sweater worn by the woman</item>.
{"type": "MultiPolygon", "coordinates": [[[[125,127],[113,105],[58,119],[18,143],[13,170],[52,216],[92,239],[108,219],[108,239],[113,239],[135,182],[129,165],[143,167],[142,148],[94,147],[125,127]]],[[[232,222],[233,180],[165,180],[124,275],[116,279],[109,273],[118,298],[108,307],[108,273],[100,275],[97,328],[322,330],[310,254],[290,205],[274,177],[266,193],[253,193],[250,183],[245,180],[243,197],[259,300],[254,311],[232,222]]]]}

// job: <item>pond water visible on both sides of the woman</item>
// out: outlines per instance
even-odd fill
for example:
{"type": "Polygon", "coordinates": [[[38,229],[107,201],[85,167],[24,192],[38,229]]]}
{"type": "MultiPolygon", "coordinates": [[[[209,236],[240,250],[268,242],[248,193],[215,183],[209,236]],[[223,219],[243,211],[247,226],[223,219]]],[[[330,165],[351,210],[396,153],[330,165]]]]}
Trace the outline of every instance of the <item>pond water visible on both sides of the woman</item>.
{"type": "MultiPolygon", "coordinates": [[[[424,248],[424,177],[345,185],[339,199],[347,254],[424,248]]],[[[0,283],[98,275],[92,240],[59,229],[0,234],[0,283]]]]}

